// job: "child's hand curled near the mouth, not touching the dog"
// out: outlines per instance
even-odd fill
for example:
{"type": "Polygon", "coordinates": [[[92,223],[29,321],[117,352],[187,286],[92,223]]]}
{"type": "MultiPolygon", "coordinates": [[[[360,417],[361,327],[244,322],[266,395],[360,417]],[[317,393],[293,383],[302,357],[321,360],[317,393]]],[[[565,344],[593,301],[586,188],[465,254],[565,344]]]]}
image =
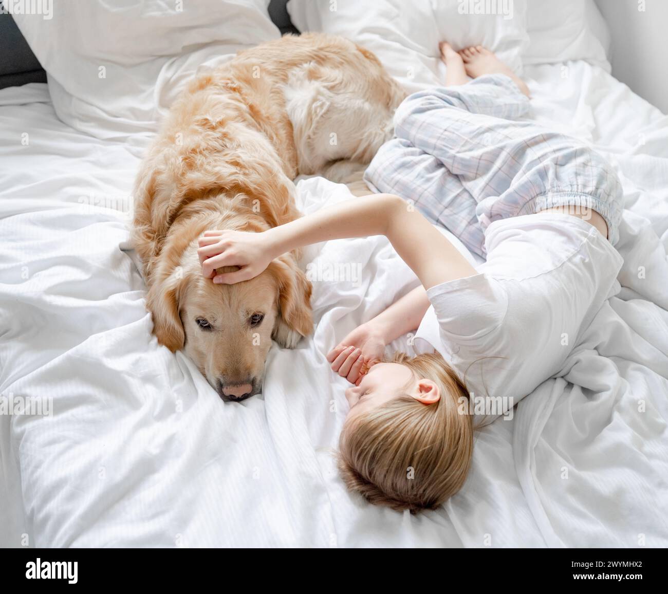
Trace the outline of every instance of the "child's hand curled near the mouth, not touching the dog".
{"type": "Polygon", "coordinates": [[[359,385],[369,366],[383,359],[385,338],[382,333],[366,323],[355,328],[339,345],[327,353],[332,371],[359,385]]]}

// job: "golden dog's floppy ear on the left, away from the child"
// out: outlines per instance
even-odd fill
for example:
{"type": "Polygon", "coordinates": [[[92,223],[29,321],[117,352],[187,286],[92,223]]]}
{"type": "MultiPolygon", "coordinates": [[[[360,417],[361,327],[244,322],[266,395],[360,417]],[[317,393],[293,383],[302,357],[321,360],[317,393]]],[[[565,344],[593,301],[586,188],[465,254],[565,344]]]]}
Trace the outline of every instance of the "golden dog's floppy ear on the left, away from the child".
{"type": "Polygon", "coordinates": [[[184,283],[181,267],[156,271],[146,294],[146,309],[153,315],[153,333],[172,353],[183,348],[186,334],[178,314],[179,293],[184,283]]]}

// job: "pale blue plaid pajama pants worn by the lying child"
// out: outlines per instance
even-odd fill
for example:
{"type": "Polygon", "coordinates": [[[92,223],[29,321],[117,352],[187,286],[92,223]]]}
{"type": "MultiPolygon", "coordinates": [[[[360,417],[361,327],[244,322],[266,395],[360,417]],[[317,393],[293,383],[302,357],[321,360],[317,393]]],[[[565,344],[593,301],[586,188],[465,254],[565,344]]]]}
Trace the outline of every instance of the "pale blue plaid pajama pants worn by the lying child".
{"type": "Polygon", "coordinates": [[[517,120],[528,108],[503,74],[414,93],[364,178],[375,192],[412,200],[482,257],[491,222],[553,206],[599,212],[615,245],[623,208],[617,174],[580,140],[517,120]]]}

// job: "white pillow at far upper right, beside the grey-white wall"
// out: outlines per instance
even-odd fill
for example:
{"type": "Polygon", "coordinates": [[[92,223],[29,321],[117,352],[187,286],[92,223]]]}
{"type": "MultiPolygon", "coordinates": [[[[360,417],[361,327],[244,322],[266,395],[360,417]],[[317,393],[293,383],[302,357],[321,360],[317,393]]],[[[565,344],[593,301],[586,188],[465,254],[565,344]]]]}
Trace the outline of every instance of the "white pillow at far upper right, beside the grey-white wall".
{"type": "Polygon", "coordinates": [[[530,0],[526,28],[525,64],[581,59],[610,71],[605,47],[610,35],[594,0],[530,0]]]}

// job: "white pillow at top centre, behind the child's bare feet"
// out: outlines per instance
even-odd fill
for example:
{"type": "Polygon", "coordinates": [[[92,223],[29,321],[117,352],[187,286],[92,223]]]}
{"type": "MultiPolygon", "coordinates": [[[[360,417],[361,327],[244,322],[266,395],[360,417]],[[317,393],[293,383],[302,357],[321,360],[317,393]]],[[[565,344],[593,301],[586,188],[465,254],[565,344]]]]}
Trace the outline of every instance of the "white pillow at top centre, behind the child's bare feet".
{"type": "Polygon", "coordinates": [[[300,31],[343,35],[367,47],[407,92],[414,92],[443,84],[438,51],[443,39],[456,49],[486,45],[520,71],[528,45],[524,0],[510,2],[512,18],[507,19],[470,13],[475,5],[464,0],[289,0],[287,9],[300,31]]]}

